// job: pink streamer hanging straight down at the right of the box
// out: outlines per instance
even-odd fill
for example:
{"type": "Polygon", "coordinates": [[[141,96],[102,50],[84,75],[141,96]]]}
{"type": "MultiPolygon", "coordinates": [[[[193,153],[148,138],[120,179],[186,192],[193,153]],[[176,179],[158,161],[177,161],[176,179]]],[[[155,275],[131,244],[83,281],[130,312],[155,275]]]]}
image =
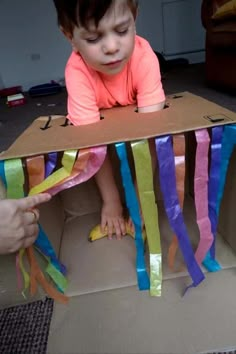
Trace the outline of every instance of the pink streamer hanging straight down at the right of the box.
{"type": "Polygon", "coordinates": [[[206,129],[195,131],[197,150],[194,176],[194,198],[200,241],[195,253],[200,265],[214,240],[208,216],[208,151],[210,138],[206,129]]]}

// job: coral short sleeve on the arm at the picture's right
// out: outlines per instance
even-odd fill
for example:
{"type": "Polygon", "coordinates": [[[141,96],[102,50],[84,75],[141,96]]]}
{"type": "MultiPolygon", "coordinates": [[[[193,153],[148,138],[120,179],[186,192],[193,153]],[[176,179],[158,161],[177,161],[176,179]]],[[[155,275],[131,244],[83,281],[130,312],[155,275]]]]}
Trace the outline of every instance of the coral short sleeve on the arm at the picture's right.
{"type": "Polygon", "coordinates": [[[148,43],[136,65],[134,75],[138,107],[152,106],[165,101],[159,61],[148,43]]]}

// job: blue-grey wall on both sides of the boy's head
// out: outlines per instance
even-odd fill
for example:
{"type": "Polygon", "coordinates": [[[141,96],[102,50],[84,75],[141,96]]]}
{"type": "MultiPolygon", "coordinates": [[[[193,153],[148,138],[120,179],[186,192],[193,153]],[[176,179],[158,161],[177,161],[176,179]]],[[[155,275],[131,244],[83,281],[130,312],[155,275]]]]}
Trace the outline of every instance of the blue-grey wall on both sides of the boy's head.
{"type": "MultiPolygon", "coordinates": [[[[185,52],[196,41],[197,47],[204,47],[199,0],[139,0],[139,4],[137,33],[167,59],[178,57],[178,50],[183,56],[181,38],[185,52]],[[189,11],[191,16],[186,17],[189,11]]],[[[71,50],[57,27],[52,0],[0,0],[0,33],[0,88],[22,85],[27,90],[64,77],[71,50]]]]}

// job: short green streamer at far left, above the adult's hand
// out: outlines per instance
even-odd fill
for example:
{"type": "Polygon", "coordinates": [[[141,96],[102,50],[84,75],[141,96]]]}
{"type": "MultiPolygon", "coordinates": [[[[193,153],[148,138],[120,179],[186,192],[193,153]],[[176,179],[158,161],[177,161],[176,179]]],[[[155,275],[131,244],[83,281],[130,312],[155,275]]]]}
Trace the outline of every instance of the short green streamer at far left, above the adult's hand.
{"type": "Polygon", "coordinates": [[[21,159],[6,160],[4,170],[7,181],[7,198],[24,197],[25,176],[21,159]]]}

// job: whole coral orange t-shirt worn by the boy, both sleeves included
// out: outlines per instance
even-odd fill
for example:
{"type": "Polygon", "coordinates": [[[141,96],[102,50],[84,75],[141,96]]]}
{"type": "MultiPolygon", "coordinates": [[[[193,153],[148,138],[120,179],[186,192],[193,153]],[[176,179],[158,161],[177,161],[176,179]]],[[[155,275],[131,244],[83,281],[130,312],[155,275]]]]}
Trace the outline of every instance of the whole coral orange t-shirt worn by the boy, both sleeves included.
{"type": "Polygon", "coordinates": [[[74,125],[99,121],[101,108],[134,103],[147,107],[165,100],[157,56],[139,36],[135,38],[130,60],[120,73],[104,76],[73,52],[66,65],[65,80],[68,118],[74,125]]]}

